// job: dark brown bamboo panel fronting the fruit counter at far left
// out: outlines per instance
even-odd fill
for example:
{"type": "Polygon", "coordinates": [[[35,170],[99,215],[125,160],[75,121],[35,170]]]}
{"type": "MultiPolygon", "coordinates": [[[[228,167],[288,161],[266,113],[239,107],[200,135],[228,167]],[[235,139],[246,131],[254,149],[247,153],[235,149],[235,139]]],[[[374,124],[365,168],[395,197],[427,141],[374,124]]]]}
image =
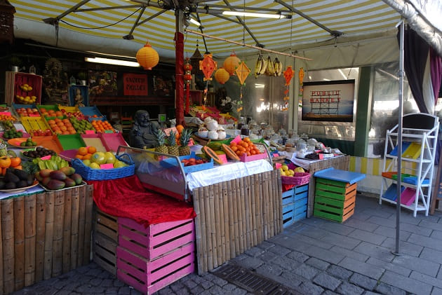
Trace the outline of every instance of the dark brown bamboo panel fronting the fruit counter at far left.
{"type": "Polygon", "coordinates": [[[0,201],[0,293],[8,294],[90,262],[93,186],[0,201]]]}

